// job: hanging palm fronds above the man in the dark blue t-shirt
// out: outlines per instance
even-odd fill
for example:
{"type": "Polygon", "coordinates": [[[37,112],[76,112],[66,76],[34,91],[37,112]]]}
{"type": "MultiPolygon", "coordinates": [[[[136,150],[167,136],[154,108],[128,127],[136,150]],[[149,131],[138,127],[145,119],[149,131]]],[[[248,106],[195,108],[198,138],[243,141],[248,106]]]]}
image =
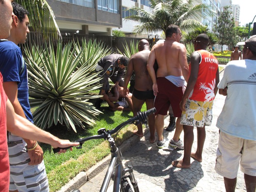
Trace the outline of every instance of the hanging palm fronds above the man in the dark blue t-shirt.
{"type": "Polygon", "coordinates": [[[49,37],[61,37],[59,27],[55,21],[52,8],[46,0],[16,0],[29,12],[29,23],[33,31],[43,33],[47,40],[49,37]]]}

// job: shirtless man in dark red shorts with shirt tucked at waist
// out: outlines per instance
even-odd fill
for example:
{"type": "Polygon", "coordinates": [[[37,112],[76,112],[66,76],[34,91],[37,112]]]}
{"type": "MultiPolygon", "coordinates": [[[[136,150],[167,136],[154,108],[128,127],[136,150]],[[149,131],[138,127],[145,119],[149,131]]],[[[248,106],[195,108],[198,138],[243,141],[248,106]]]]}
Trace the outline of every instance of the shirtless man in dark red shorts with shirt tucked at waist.
{"type": "Polygon", "coordinates": [[[179,104],[183,97],[183,86],[189,78],[189,66],[187,64],[186,47],[178,43],[181,39],[181,31],[178,26],[170,25],[166,29],[166,40],[152,47],[147,62],[147,69],[153,81],[153,91],[156,96],[154,107],[156,108],[155,127],[158,135],[157,147],[162,149],[166,138],[163,137],[164,116],[171,104],[173,114],[178,117],[176,130],[169,145],[184,149],[179,139],[183,130],[180,125],[182,111],[179,104]],[[155,59],[158,69],[154,71],[155,59]],[[183,77],[184,76],[184,77],[183,77]],[[185,78],[185,79],[184,79],[185,78]]]}

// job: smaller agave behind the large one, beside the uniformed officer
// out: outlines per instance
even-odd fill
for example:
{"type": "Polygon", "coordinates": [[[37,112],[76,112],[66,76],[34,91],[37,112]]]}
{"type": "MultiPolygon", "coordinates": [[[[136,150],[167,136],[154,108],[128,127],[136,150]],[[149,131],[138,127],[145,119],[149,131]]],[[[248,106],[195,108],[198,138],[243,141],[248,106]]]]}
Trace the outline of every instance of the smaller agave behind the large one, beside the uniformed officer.
{"type": "Polygon", "coordinates": [[[88,42],[86,42],[86,40],[83,39],[81,45],[78,43],[78,46],[76,46],[75,42],[73,42],[73,44],[76,47],[76,54],[83,52],[83,57],[78,67],[85,64],[90,65],[92,66],[92,69],[95,69],[100,58],[111,54],[110,49],[106,49],[104,43],[97,43],[96,40],[92,42],[90,39],[88,42]]]}

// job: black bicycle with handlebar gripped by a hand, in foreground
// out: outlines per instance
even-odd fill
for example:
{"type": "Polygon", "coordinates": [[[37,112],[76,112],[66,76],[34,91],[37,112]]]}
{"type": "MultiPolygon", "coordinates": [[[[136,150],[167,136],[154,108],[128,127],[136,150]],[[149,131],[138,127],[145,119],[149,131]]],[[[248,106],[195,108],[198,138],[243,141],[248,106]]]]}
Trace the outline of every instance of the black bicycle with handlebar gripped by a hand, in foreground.
{"type": "MultiPolygon", "coordinates": [[[[133,174],[133,167],[127,166],[126,168],[123,167],[122,164],[122,154],[118,147],[116,147],[115,144],[115,138],[113,138],[111,135],[114,133],[119,132],[121,128],[128,124],[137,124],[142,123],[147,125],[147,116],[149,114],[152,114],[156,111],[155,108],[149,109],[147,111],[138,112],[137,116],[132,117],[128,119],[127,121],[121,123],[119,126],[112,130],[106,130],[105,128],[101,128],[98,130],[98,135],[93,135],[86,138],[81,138],[76,140],[76,142],[79,142],[80,145],[76,147],[77,149],[81,149],[82,145],[85,141],[91,140],[91,139],[104,139],[108,140],[110,145],[110,151],[111,151],[111,161],[109,164],[109,168],[107,170],[107,173],[105,175],[105,178],[102,183],[102,187],[100,189],[100,192],[107,192],[107,187],[109,185],[109,182],[111,179],[114,180],[114,186],[113,186],[113,192],[133,192],[132,188],[130,187],[130,183],[133,185],[133,189],[135,192],[140,192],[139,187],[137,185],[137,181],[135,180],[134,174],[133,174]],[[126,174],[129,173],[129,174],[126,174]],[[130,179],[130,183],[128,182],[127,178],[130,179]]],[[[117,135],[116,134],[116,135],[117,135]]],[[[65,149],[69,149],[70,147],[66,147],[65,149]]],[[[53,151],[59,152],[60,148],[53,149],[53,151]]]]}

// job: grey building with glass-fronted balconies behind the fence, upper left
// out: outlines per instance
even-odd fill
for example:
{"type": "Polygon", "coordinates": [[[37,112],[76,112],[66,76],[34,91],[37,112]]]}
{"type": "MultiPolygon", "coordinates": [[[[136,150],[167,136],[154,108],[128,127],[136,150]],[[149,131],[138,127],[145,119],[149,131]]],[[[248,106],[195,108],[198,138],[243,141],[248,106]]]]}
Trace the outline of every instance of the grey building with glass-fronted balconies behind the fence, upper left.
{"type": "Polygon", "coordinates": [[[121,0],[47,0],[62,33],[112,35],[122,27],[121,0]]]}

